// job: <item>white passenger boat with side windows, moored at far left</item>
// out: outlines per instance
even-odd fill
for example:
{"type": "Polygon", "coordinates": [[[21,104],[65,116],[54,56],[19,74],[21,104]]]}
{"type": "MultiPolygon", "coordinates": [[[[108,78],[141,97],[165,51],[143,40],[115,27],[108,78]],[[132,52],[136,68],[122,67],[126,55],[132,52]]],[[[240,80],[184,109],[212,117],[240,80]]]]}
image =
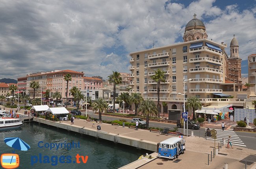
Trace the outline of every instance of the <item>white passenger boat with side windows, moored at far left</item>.
{"type": "Polygon", "coordinates": [[[16,129],[22,125],[19,118],[11,118],[7,111],[0,111],[0,130],[16,129]]]}

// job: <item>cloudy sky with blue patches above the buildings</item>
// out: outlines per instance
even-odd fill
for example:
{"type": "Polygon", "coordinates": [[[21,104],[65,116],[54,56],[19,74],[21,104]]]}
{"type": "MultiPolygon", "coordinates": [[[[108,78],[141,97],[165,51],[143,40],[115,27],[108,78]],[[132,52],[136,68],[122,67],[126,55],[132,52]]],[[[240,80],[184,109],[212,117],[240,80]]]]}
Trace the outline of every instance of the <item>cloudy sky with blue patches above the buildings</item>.
{"type": "Polygon", "coordinates": [[[129,53],[183,42],[194,13],[228,55],[236,35],[247,76],[256,0],[1,0],[0,79],[54,69],[130,73],[129,53]]]}

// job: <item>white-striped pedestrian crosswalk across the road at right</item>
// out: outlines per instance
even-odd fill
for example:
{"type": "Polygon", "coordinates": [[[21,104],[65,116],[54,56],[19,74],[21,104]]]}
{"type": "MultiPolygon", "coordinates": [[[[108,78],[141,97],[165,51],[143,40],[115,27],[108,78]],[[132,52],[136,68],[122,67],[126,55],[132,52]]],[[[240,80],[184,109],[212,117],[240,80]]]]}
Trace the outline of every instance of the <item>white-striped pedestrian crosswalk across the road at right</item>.
{"type": "MultiPolygon", "coordinates": [[[[234,131],[231,131],[231,130],[222,131],[221,129],[215,129],[215,130],[217,131],[216,142],[221,142],[224,138],[225,139],[224,142],[225,142],[225,144],[227,144],[228,136],[231,136],[230,141],[231,141],[232,145],[246,147],[246,145],[243,143],[243,141],[239,138],[239,136],[237,136],[237,134],[234,131]]],[[[206,131],[206,129],[205,129],[205,131],[206,131]]],[[[214,141],[214,138],[207,136],[207,140],[214,141]]]]}

